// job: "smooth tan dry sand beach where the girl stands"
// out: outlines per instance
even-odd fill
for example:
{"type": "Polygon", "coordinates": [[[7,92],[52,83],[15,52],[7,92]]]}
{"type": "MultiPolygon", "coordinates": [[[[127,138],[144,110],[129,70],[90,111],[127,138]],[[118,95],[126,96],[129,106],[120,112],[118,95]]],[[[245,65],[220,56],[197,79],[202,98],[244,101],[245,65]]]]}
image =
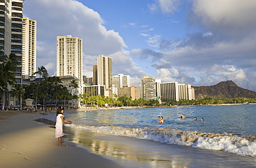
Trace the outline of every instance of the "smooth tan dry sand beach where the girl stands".
{"type": "Polygon", "coordinates": [[[1,167],[122,167],[70,142],[58,147],[55,130],[33,120],[40,115],[0,112],[1,167]]]}

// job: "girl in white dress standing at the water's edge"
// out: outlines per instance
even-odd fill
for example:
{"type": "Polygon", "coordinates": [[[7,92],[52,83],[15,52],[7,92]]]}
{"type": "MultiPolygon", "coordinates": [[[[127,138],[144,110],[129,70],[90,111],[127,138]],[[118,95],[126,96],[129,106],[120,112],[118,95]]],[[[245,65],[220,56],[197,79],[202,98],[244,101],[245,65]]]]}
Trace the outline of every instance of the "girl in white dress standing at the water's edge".
{"type": "Polygon", "coordinates": [[[71,121],[65,120],[64,118],[64,107],[59,106],[57,109],[57,117],[56,117],[56,124],[55,124],[55,138],[58,138],[59,146],[62,146],[62,136],[64,136],[63,133],[63,124],[72,124],[71,121]]]}

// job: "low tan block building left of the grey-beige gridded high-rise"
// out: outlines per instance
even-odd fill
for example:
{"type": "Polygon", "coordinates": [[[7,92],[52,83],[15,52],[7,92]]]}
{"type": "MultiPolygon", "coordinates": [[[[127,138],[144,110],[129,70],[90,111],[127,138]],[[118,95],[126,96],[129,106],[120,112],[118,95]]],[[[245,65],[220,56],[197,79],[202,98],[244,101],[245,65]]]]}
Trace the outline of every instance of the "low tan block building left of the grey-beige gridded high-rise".
{"type": "Polygon", "coordinates": [[[118,96],[131,97],[131,100],[138,100],[140,98],[140,87],[129,86],[118,88],[118,96]]]}

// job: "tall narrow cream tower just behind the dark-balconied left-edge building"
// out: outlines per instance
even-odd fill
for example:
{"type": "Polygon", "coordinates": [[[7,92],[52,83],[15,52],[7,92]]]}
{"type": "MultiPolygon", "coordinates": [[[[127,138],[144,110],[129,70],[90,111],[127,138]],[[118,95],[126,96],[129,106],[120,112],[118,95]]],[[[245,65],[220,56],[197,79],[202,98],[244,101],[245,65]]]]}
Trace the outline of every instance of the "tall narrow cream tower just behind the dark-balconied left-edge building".
{"type": "Polygon", "coordinates": [[[23,18],[22,75],[25,79],[37,71],[37,21],[23,18]]]}

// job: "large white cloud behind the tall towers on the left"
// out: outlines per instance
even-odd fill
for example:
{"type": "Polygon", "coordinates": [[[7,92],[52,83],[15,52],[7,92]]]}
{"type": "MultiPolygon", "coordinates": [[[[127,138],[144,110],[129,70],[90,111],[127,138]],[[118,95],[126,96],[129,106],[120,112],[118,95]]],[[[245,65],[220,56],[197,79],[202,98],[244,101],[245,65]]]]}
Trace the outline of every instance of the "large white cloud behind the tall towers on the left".
{"type": "MultiPolygon", "coordinates": [[[[37,66],[48,65],[51,75],[55,74],[55,68],[48,63],[56,64],[56,37],[59,35],[82,39],[86,55],[109,55],[127,47],[118,32],[103,26],[98,12],[78,1],[26,0],[24,15],[37,20],[37,66]]],[[[84,59],[84,68],[88,68],[87,60],[84,59]]]]}

